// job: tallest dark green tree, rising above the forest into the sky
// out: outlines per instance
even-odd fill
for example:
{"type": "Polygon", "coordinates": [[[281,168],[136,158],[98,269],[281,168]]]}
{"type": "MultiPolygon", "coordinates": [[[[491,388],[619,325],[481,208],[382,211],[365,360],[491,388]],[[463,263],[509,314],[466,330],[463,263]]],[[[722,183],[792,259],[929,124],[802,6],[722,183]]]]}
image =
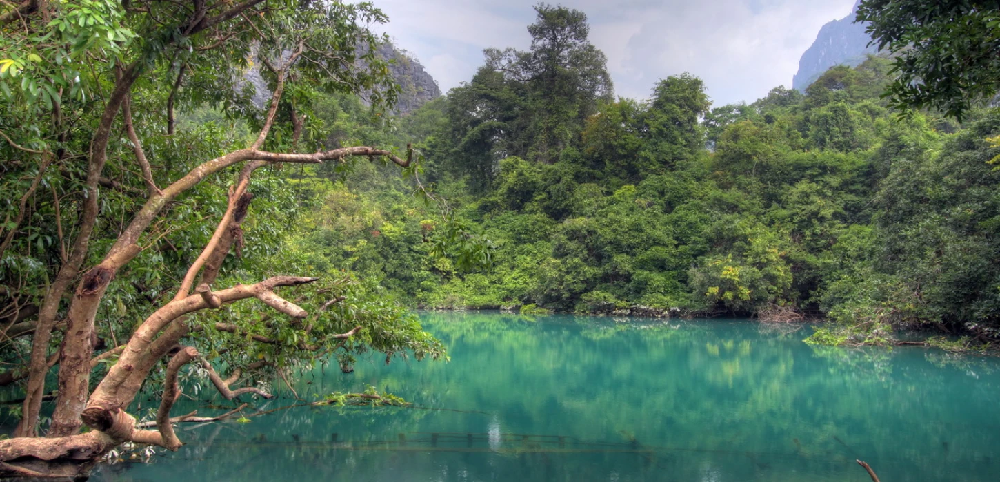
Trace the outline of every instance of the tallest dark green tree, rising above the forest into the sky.
{"type": "Polygon", "coordinates": [[[544,3],[535,12],[530,51],[486,49],[472,82],[449,94],[444,155],[479,190],[507,156],[557,162],[578,146],[599,102],[613,98],[607,59],[587,38],[586,15],[544,3]]]}

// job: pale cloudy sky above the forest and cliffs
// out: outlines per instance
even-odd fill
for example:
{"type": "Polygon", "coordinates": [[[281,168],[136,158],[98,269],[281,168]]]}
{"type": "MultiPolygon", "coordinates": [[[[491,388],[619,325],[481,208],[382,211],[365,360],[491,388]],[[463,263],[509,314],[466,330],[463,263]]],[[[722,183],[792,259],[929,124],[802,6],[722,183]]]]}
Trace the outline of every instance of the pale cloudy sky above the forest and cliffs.
{"type": "MultiPolygon", "coordinates": [[[[608,58],[615,94],[646,99],[653,85],[689,72],[713,105],[751,103],[791,87],[799,58],[823,24],[855,0],[563,0],[587,14],[590,40],[608,58]]],[[[488,47],[527,50],[536,0],[376,0],[379,30],[420,61],[443,92],[468,82],[488,47]]]]}

